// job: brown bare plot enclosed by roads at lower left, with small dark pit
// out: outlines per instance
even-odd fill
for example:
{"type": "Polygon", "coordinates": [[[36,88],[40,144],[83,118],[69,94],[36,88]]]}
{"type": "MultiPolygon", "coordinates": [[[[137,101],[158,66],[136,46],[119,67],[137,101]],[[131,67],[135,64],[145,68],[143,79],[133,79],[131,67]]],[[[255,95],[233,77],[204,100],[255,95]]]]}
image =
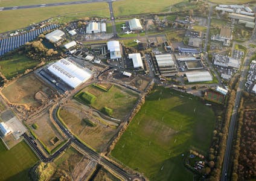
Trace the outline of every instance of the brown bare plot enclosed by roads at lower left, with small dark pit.
{"type": "Polygon", "coordinates": [[[49,150],[53,150],[65,141],[63,135],[57,130],[57,125],[51,121],[48,110],[43,111],[36,118],[30,119],[26,123],[36,133],[37,139],[42,141],[49,150]]]}

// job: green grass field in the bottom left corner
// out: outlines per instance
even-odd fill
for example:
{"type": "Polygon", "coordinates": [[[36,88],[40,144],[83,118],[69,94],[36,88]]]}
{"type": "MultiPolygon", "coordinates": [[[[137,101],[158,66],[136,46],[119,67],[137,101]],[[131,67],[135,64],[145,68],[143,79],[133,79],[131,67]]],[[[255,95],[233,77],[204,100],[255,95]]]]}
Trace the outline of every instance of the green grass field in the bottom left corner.
{"type": "Polygon", "coordinates": [[[24,141],[6,150],[0,140],[0,180],[29,180],[28,170],[36,162],[36,155],[24,141]]]}

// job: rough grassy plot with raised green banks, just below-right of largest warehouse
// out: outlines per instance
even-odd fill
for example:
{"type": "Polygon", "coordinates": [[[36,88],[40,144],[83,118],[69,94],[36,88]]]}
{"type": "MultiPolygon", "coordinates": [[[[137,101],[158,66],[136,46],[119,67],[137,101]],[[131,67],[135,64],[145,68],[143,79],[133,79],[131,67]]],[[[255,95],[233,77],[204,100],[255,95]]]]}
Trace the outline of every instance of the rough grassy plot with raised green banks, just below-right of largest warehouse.
{"type": "Polygon", "coordinates": [[[75,97],[83,92],[88,92],[96,97],[95,101],[91,103],[92,107],[100,111],[103,107],[108,107],[113,110],[113,113],[110,116],[118,119],[125,118],[138,98],[138,95],[135,92],[132,92],[132,90],[115,85],[111,86],[108,91],[104,91],[91,85],[78,92],[75,97]]]}

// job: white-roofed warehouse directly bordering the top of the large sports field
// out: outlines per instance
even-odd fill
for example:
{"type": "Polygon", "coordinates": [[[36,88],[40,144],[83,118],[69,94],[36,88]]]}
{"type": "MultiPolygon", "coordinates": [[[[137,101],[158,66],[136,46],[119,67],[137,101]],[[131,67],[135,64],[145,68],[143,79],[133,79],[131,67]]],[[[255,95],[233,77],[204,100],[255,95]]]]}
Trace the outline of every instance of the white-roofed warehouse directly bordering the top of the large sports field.
{"type": "Polygon", "coordinates": [[[213,77],[208,71],[186,73],[188,82],[212,81],[213,77]]]}

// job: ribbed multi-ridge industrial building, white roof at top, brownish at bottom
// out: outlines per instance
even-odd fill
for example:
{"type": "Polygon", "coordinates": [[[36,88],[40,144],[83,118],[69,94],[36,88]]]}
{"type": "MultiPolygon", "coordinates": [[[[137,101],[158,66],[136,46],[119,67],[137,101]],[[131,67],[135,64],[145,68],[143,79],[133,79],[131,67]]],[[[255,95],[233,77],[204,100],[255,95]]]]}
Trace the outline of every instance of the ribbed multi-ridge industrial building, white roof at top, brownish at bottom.
{"type": "Polygon", "coordinates": [[[161,75],[164,77],[171,77],[177,74],[178,71],[171,54],[159,54],[155,57],[161,75]]]}

